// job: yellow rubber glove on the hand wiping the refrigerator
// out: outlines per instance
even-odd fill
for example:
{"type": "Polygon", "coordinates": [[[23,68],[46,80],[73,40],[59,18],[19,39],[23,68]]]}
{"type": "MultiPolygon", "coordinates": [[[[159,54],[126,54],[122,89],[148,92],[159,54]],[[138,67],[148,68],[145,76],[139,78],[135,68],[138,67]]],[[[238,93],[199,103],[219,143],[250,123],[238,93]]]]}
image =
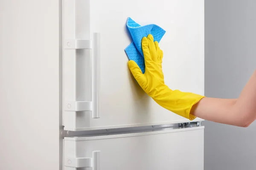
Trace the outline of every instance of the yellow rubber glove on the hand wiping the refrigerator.
{"type": "Polygon", "coordinates": [[[196,117],[190,114],[191,108],[204,96],[171,90],[164,83],[162,71],[163,51],[159,48],[158,42],[154,42],[151,34],[142,39],[142,49],[145,59],[145,73],[133,60],[128,62],[129,69],[140,87],[163,108],[172,111],[189,120],[196,117]]]}

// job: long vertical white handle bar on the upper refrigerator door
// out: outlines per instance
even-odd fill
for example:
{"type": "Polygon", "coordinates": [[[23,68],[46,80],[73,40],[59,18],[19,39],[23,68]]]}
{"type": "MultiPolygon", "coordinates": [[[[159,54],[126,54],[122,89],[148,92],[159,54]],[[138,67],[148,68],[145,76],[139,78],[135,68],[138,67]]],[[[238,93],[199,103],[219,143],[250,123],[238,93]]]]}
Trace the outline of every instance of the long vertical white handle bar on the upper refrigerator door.
{"type": "Polygon", "coordinates": [[[93,33],[92,118],[100,117],[100,34],[93,33]]]}

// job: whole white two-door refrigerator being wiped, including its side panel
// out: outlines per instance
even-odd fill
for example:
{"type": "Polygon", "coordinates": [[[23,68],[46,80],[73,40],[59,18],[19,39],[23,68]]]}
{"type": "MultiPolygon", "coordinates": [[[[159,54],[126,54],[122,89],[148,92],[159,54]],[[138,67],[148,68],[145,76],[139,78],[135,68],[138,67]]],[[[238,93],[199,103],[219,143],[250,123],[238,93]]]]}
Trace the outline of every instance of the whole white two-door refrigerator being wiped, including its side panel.
{"type": "Polygon", "coordinates": [[[203,120],[129,71],[128,17],[166,31],[166,85],[204,95],[204,0],[2,0],[0,169],[204,169],[203,120]]]}

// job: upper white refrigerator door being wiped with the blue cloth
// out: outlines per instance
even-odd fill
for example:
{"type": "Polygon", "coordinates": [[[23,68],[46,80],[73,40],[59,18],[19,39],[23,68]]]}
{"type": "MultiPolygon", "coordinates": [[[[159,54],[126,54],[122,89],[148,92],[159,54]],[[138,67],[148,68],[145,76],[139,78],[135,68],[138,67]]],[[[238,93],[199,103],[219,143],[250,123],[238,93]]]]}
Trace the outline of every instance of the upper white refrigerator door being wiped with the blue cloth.
{"type": "Polygon", "coordinates": [[[63,0],[65,130],[188,122],[155,103],[131,75],[128,17],[166,30],[166,85],[204,95],[204,0],[63,0]]]}

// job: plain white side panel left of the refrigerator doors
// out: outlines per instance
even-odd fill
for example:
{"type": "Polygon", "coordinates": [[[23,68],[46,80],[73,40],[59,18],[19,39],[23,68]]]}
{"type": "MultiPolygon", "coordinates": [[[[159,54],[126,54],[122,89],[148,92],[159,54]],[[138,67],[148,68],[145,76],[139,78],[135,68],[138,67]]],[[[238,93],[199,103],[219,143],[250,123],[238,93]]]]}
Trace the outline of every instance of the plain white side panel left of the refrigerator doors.
{"type": "Polygon", "coordinates": [[[0,0],[0,170],[62,170],[60,11],[0,0]]]}

